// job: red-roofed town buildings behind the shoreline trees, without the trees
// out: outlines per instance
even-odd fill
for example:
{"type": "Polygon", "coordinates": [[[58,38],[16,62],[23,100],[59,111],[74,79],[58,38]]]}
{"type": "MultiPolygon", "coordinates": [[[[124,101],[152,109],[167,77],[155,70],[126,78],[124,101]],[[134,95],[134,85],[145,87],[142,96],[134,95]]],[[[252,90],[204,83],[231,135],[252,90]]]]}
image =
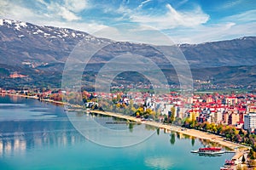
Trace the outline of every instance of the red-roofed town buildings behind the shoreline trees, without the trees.
{"type": "MultiPolygon", "coordinates": [[[[2,92],[15,94],[15,90],[2,92]]],[[[24,93],[24,92],[23,92],[24,93]]],[[[35,93],[39,93],[35,91],[35,93]]],[[[61,90],[45,90],[39,93],[43,97],[49,94],[61,93],[61,90]]],[[[91,94],[87,94],[88,98],[91,94]]],[[[181,119],[189,117],[190,120],[195,119],[197,122],[209,122],[215,124],[231,125],[236,128],[244,128],[250,132],[254,132],[256,128],[256,94],[191,94],[184,98],[177,92],[168,94],[150,94],[149,92],[130,91],[127,94],[94,94],[93,97],[104,99],[118,98],[120,104],[129,105],[133,101],[135,105],[143,105],[144,110],[160,112],[161,115],[170,116],[181,119]],[[175,112],[172,113],[172,108],[175,112]]]]}

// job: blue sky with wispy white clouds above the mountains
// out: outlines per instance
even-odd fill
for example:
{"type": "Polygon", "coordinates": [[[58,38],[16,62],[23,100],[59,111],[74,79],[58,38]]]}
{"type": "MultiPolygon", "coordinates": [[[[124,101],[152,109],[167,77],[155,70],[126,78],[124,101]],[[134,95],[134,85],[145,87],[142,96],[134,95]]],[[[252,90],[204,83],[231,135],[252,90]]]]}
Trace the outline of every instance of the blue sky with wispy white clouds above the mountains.
{"type": "Polygon", "coordinates": [[[117,24],[151,26],[176,43],[256,36],[254,0],[1,0],[0,15],[91,34],[117,24]]]}

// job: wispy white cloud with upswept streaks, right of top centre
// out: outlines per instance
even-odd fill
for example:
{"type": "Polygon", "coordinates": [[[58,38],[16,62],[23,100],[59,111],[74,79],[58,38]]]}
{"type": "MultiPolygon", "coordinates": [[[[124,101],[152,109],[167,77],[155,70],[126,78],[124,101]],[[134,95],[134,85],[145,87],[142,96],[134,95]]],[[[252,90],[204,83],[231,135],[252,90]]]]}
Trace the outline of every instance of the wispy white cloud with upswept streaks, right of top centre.
{"type": "Polygon", "coordinates": [[[209,15],[197,7],[193,11],[181,12],[172,8],[170,4],[166,5],[168,12],[164,15],[152,16],[145,14],[130,14],[131,21],[154,26],[158,29],[171,29],[179,26],[195,27],[207,23],[209,15]]]}

